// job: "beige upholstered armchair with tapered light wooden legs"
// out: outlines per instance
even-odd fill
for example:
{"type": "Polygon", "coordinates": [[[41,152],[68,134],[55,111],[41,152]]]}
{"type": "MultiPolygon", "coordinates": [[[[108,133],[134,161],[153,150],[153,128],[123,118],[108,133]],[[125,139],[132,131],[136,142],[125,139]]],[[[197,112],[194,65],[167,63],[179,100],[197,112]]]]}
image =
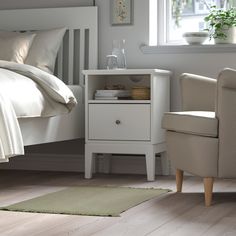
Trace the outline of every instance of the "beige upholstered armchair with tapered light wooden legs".
{"type": "Polygon", "coordinates": [[[203,177],[205,205],[212,201],[215,177],[236,177],[236,70],[224,69],[218,79],[182,74],[182,110],[169,112],[167,154],[176,168],[177,192],[183,171],[203,177]]]}

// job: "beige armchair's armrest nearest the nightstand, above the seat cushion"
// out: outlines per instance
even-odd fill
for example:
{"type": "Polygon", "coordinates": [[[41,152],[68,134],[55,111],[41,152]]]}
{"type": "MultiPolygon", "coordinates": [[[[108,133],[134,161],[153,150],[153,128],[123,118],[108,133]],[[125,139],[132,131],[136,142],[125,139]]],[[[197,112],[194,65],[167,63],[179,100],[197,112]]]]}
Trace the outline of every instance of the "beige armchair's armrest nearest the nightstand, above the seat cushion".
{"type": "Polygon", "coordinates": [[[212,78],[184,73],[180,76],[183,111],[215,111],[217,81],[212,78]]]}

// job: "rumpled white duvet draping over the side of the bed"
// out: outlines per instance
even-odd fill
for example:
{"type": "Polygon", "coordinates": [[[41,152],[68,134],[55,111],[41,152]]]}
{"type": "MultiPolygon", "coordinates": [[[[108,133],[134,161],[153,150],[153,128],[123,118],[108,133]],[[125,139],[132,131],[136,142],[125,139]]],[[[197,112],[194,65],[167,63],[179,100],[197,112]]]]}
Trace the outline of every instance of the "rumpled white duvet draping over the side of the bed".
{"type": "Polygon", "coordinates": [[[55,76],[0,60],[0,162],[24,154],[17,118],[64,114],[75,105],[71,90],[55,76]]]}

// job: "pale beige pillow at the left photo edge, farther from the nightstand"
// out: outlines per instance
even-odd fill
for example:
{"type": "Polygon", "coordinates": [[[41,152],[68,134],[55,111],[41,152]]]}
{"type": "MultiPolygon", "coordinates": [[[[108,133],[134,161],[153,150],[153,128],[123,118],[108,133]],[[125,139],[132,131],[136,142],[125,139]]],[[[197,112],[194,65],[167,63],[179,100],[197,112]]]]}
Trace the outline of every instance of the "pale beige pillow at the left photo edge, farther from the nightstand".
{"type": "Polygon", "coordinates": [[[35,34],[0,31],[0,60],[24,63],[35,34]]]}

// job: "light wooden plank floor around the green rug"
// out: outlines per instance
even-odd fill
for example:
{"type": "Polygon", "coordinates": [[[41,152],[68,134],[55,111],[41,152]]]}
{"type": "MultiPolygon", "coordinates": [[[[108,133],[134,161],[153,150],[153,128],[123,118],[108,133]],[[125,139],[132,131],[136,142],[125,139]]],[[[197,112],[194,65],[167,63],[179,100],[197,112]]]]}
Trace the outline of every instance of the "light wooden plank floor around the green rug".
{"type": "MultiPolygon", "coordinates": [[[[173,177],[146,182],[139,175],[1,171],[0,206],[75,185],[111,185],[175,189],[173,177]]],[[[185,177],[183,193],[170,192],[147,201],[121,217],[91,217],[0,211],[0,235],[16,236],[167,236],[236,235],[236,180],[217,180],[213,206],[204,207],[201,179],[185,177]]]]}

